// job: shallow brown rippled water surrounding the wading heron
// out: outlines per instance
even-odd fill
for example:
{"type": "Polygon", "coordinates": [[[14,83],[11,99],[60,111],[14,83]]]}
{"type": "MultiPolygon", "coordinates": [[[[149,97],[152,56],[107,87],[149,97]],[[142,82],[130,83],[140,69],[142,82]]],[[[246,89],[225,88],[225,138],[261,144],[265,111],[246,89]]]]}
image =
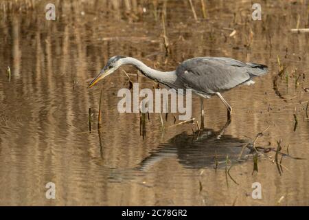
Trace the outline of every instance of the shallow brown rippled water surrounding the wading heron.
{"type": "MultiPolygon", "coordinates": [[[[299,27],[308,25],[308,5],[267,1],[262,21],[252,21],[251,1],[205,1],[207,19],[201,19],[200,1],[194,1],[196,22],[187,1],[137,1],[130,10],[118,1],[61,2],[57,21],[45,20],[45,1],[27,12],[1,11],[0,205],[271,206],[284,197],[279,205],[308,206],[309,121],[302,102],[309,93],[302,87],[309,87],[309,34],[290,32],[298,14],[299,27]],[[165,6],[168,58],[161,25],[165,6]],[[236,35],[230,37],[233,29],[236,35]],[[143,139],[139,114],[117,111],[117,91],[128,87],[118,70],[102,83],[100,139],[100,86],[87,85],[114,55],[134,56],[166,71],[194,56],[227,56],[268,65],[269,73],[251,87],[223,94],[233,107],[233,119],[220,140],[214,137],[225,125],[226,109],[218,98],[205,101],[207,129],[198,140],[192,135],[196,124],[173,126],[162,135],[156,113],[150,114],[143,139]],[[277,80],[283,98],[273,89],[277,56],[288,66],[288,83],[285,75],[277,80]],[[301,74],[296,88],[295,68],[301,74]],[[95,122],[89,134],[90,107],[95,122]],[[293,114],[298,118],[295,131],[293,114]],[[293,157],[307,158],[283,157],[282,175],[272,162],[274,152],[260,157],[258,173],[252,174],[251,157],[235,162],[242,144],[268,125],[257,146],[276,148],[282,139],[283,153],[288,146],[293,157]],[[229,155],[230,173],[239,185],[230,178],[227,185],[225,166],[214,169],[216,154],[221,162],[229,155]],[[56,199],[45,198],[49,181],[56,184],[56,199]],[[251,197],[253,182],[262,184],[262,199],[251,197]]],[[[154,87],[145,77],[131,80],[154,87]]],[[[192,109],[192,117],[199,119],[199,98],[194,97],[192,109]]],[[[169,115],[166,126],[172,124],[169,115]]]]}

